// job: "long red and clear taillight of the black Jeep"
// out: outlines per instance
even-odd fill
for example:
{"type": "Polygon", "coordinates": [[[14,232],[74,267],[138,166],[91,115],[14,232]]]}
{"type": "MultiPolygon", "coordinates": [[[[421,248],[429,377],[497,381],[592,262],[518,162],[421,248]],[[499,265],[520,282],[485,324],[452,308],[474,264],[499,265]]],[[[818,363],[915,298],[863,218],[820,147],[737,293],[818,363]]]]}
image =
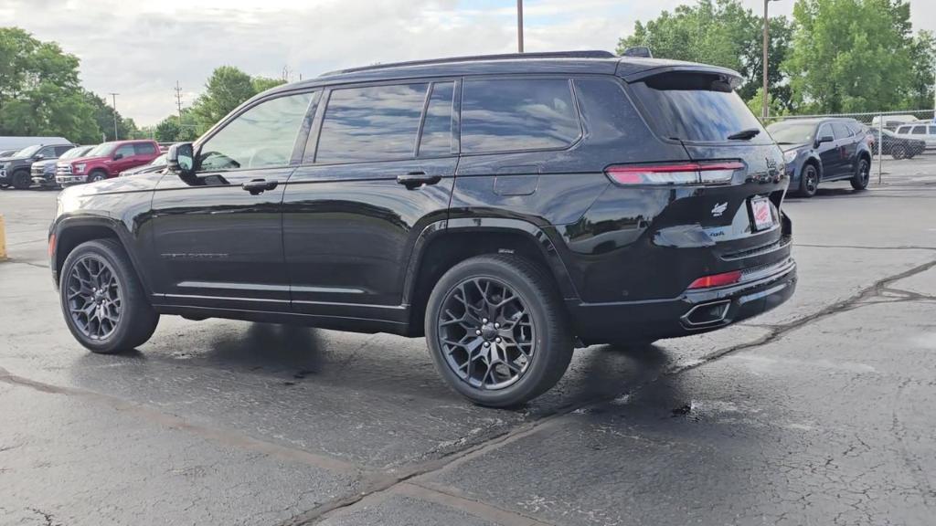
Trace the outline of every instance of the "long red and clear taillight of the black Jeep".
{"type": "Polygon", "coordinates": [[[618,184],[714,184],[728,183],[744,164],[739,161],[679,163],[673,165],[614,166],[605,170],[618,184]]]}

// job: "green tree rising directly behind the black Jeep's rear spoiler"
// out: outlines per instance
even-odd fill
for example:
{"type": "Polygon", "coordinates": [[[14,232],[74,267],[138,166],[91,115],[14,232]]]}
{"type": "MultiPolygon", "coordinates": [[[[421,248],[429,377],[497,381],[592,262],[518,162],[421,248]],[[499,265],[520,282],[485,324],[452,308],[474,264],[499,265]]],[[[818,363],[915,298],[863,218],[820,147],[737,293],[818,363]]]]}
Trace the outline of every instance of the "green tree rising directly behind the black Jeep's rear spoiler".
{"type": "MultiPolygon", "coordinates": [[[[787,107],[790,89],[780,65],[793,30],[785,17],[773,17],[769,23],[770,95],[787,107]]],[[[744,77],[739,95],[750,99],[763,84],[762,31],[763,19],[744,8],[740,0],[699,0],[695,5],[676,7],[672,13],[664,11],[654,20],[636,22],[634,33],[619,41],[618,52],[632,46],[649,46],[655,57],[735,69],[744,77]]]]}

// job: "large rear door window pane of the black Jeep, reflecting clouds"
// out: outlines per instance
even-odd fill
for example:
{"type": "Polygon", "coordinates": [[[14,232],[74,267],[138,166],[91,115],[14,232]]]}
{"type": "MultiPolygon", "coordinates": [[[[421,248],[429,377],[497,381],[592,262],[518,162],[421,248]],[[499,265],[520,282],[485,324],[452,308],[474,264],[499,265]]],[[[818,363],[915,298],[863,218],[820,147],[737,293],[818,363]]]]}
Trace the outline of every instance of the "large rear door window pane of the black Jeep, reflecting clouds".
{"type": "Polygon", "coordinates": [[[315,162],[412,158],[427,88],[420,83],[332,91],[315,162]]]}

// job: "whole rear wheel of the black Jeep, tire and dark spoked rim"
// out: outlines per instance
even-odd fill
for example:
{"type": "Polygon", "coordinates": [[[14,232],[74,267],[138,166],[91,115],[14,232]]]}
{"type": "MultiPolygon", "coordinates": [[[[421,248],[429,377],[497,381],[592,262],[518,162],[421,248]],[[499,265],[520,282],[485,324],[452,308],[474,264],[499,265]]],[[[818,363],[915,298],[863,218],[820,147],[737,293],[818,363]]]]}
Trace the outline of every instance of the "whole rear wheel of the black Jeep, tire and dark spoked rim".
{"type": "Polygon", "coordinates": [[[476,256],[448,270],[432,289],[425,329],[449,387],[490,407],[533,400],[556,385],[572,359],[572,334],[551,276],[519,256],[476,256]],[[498,362],[493,367],[485,363],[491,358],[498,362]]]}

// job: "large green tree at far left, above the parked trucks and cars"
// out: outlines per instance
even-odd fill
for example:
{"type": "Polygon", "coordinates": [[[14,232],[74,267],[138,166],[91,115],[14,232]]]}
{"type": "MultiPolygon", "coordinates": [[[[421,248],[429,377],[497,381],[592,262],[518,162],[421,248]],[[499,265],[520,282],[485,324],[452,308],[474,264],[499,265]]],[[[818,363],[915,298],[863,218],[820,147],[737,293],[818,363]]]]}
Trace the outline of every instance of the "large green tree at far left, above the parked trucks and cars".
{"type": "Polygon", "coordinates": [[[0,135],[100,139],[78,66],[78,57],[54,42],[41,42],[19,28],[0,28],[0,135]]]}

